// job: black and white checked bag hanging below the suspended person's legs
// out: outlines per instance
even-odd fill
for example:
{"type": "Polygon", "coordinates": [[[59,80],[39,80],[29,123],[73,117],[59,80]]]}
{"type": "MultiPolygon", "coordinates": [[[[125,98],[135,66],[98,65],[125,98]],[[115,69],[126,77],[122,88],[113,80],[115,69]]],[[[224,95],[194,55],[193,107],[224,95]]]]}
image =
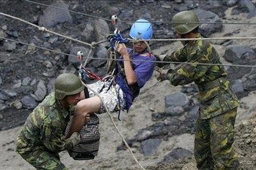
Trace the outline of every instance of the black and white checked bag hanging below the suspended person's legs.
{"type": "MultiPolygon", "coordinates": [[[[66,132],[68,132],[71,122],[72,118],[66,127],[66,132]]],[[[80,131],[81,136],[79,145],[75,145],[71,150],[69,150],[69,155],[75,160],[78,159],[77,157],[80,157],[80,160],[93,159],[98,155],[100,139],[98,125],[98,116],[95,113],[91,114],[89,122],[87,122],[80,131]]]]}

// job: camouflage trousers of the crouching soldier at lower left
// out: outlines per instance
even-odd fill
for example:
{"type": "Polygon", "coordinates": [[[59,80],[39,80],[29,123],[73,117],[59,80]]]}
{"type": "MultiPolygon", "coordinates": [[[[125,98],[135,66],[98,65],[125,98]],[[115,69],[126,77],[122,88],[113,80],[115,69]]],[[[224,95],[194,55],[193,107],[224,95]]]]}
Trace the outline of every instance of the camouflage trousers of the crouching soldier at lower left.
{"type": "Polygon", "coordinates": [[[22,135],[18,136],[16,143],[16,152],[23,159],[30,163],[37,170],[68,170],[64,164],[60,162],[59,154],[49,152],[42,147],[33,147],[27,143],[22,135]]]}

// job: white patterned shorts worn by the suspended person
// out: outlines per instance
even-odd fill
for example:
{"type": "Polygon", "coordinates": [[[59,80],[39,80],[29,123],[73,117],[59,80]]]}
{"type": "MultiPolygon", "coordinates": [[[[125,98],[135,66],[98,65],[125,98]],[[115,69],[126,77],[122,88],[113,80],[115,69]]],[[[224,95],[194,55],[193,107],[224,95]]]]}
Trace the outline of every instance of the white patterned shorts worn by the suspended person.
{"type": "MultiPolygon", "coordinates": [[[[92,88],[93,90],[97,91],[101,98],[103,99],[106,107],[108,108],[109,112],[117,112],[119,111],[118,107],[120,104],[121,110],[124,110],[126,106],[126,101],[125,101],[125,96],[119,85],[112,85],[108,89],[109,83],[107,82],[95,82],[92,84],[89,84],[89,87],[92,88]],[[105,85],[105,87],[104,87],[105,85]],[[103,88],[103,89],[102,89],[103,88]],[[102,89],[102,91],[101,91],[102,89]],[[101,92],[100,92],[101,91],[101,92]],[[118,100],[118,93],[119,93],[119,100],[118,100]]],[[[88,89],[89,90],[89,89],[88,89]]],[[[93,91],[89,90],[89,96],[90,98],[95,96],[93,91]]],[[[104,108],[104,105],[101,103],[100,110],[98,113],[106,113],[106,110],[104,108]]]]}

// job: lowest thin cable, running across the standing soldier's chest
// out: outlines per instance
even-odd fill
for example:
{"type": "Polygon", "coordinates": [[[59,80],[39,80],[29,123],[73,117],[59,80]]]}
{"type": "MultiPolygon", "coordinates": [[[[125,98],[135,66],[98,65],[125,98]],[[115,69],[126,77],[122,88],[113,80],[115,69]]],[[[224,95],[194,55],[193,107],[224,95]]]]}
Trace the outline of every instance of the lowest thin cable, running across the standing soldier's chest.
{"type": "MultiPolygon", "coordinates": [[[[45,48],[45,47],[39,47],[37,45],[28,44],[28,43],[24,43],[24,42],[21,42],[21,41],[16,41],[16,40],[9,39],[9,38],[4,38],[4,37],[1,37],[1,36],[0,36],[0,38],[8,40],[8,41],[13,41],[13,42],[16,42],[16,43],[19,43],[19,44],[24,44],[24,45],[40,48],[40,49],[43,49],[43,50],[49,50],[49,51],[52,51],[52,52],[58,53],[58,54],[64,54],[64,55],[68,55],[68,56],[77,57],[76,55],[63,53],[63,52],[60,52],[60,51],[57,51],[57,50],[51,50],[51,49],[45,48]]],[[[153,60],[124,60],[124,59],[94,58],[94,57],[86,57],[86,59],[91,59],[91,60],[115,60],[115,61],[141,61],[141,62],[169,63],[169,64],[197,64],[197,65],[206,65],[206,66],[237,66],[237,67],[253,67],[253,68],[256,67],[254,65],[239,65],[239,64],[191,63],[191,62],[153,61],[153,60]]]]}

